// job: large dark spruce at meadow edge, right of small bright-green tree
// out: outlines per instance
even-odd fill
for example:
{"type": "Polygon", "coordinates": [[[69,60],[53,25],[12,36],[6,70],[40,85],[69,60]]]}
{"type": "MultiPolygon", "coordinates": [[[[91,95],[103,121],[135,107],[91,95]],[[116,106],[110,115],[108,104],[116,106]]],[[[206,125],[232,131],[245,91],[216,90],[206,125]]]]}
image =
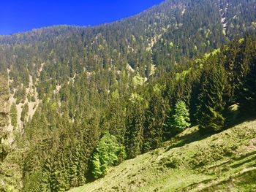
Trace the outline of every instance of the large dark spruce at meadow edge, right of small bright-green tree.
{"type": "Polygon", "coordinates": [[[211,58],[202,74],[197,120],[203,131],[219,131],[225,126],[225,108],[229,96],[227,76],[222,64],[211,58]],[[208,69],[207,69],[208,68],[208,69]]]}

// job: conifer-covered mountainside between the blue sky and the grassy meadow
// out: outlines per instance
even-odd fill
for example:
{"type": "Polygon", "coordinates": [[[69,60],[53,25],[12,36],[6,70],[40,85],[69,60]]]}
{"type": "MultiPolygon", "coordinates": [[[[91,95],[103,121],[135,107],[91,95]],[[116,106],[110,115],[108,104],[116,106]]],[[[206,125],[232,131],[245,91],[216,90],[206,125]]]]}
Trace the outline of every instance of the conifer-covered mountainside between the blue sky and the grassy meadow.
{"type": "Polygon", "coordinates": [[[0,36],[0,190],[67,191],[189,126],[256,115],[255,4],[167,0],[0,36]]]}

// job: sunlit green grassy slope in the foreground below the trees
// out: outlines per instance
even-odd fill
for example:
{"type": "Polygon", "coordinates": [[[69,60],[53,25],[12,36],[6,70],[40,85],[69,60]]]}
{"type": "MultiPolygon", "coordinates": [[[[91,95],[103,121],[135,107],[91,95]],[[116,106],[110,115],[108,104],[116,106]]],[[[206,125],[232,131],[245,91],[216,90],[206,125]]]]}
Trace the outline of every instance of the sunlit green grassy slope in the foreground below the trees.
{"type": "Polygon", "coordinates": [[[189,128],[82,191],[256,191],[256,120],[202,138],[189,128]]]}

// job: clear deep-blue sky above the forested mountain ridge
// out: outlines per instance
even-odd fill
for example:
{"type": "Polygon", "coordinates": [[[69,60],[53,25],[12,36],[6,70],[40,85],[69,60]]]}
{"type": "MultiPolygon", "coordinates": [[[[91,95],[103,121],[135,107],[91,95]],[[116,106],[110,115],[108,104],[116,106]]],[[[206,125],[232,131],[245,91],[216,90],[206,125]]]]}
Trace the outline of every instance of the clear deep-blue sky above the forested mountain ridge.
{"type": "Polygon", "coordinates": [[[3,0],[0,34],[53,25],[95,26],[135,15],[163,0],[3,0]]]}

